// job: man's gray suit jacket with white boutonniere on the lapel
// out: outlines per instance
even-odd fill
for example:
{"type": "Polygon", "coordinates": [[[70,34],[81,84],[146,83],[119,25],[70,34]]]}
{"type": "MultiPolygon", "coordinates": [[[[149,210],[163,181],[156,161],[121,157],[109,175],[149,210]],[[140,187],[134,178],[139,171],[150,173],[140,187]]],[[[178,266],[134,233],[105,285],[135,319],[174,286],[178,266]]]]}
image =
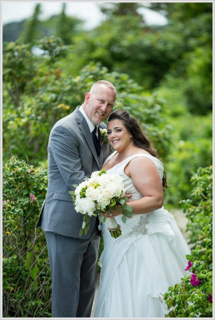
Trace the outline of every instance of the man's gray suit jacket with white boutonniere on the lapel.
{"type": "MultiPolygon", "coordinates": [[[[99,128],[106,128],[104,123],[99,128]]],[[[99,130],[99,140],[101,135],[99,130]]],[[[89,126],[79,107],[59,120],[52,128],[48,143],[48,189],[36,228],[52,231],[64,236],[79,238],[83,215],[76,212],[69,190],[73,184],[81,183],[93,171],[101,169],[111,154],[108,143],[103,143],[100,156],[96,154],[89,126]]],[[[85,236],[92,235],[96,217],[90,219],[90,229],[85,236]]]]}

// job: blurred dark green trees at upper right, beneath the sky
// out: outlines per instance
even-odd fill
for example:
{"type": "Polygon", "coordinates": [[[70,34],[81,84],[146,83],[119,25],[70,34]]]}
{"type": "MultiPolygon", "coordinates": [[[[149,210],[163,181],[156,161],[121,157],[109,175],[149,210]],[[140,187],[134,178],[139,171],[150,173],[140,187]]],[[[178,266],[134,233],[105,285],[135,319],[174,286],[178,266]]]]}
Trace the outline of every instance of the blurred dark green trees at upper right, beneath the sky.
{"type": "Polygon", "coordinates": [[[212,109],[211,3],[155,4],[155,9],[168,12],[163,27],[146,26],[136,12],[137,4],[101,8],[107,19],[74,37],[68,55],[74,63],[68,73],[77,74],[89,61],[100,61],[110,71],[128,74],[146,90],[166,87],[166,76],[171,75],[181,80],[189,111],[205,115],[212,109]]]}

